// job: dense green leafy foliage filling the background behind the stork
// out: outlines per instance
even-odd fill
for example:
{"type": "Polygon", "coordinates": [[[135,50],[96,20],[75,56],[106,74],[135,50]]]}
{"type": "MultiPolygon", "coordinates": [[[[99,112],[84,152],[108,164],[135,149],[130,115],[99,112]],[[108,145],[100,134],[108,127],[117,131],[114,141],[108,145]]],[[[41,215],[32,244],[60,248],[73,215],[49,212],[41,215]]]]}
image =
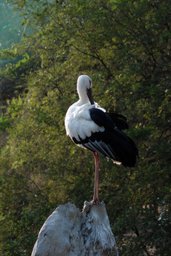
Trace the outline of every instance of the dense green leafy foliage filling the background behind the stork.
{"type": "MultiPolygon", "coordinates": [[[[9,1],[10,2],[10,1],[9,1]]],[[[81,74],[94,100],[128,118],[136,168],[101,160],[120,255],[170,255],[171,2],[11,1],[32,36],[1,50],[0,254],[31,255],[41,225],[62,203],[92,200],[94,159],[65,134],[81,74]]]]}

